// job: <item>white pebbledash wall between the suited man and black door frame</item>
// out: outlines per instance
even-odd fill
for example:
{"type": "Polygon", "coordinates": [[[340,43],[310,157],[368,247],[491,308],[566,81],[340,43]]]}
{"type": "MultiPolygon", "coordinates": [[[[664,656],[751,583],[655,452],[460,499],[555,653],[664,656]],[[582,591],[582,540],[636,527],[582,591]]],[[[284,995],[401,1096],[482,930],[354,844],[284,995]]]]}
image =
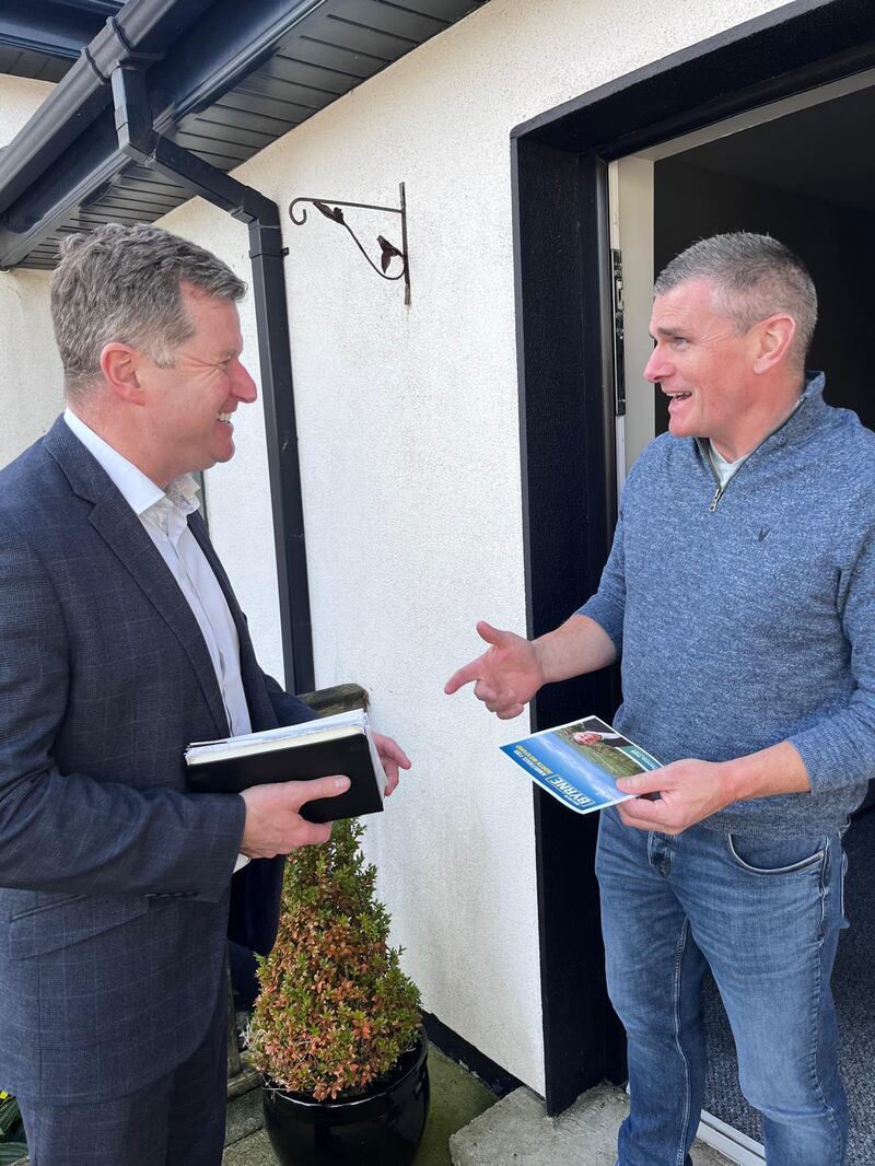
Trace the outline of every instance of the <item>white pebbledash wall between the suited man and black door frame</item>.
{"type": "MultiPolygon", "coordinates": [[[[342,229],[285,218],[316,682],[364,684],[374,723],[414,761],[366,845],[426,1009],[538,1091],[532,795],[497,751],[527,719],[442,693],[480,649],[478,618],[525,630],[510,132],[776,7],[492,0],[235,171],[284,208],[388,205],[406,183],[410,308],[342,229]]],[[[400,243],[392,216],[350,220],[400,243]]],[[[161,222],[247,272],[244,227],[200,199],[161,222]]],[[[9,281],[33,275],[0,276],[4,305],[9,281]]],[[[250,301],[243,321],[256,372],[250,301]]],[[[279,673],[260,409],[238,414],[236,441],[235,461],[208,473],[210,524],[279,673]]]]}

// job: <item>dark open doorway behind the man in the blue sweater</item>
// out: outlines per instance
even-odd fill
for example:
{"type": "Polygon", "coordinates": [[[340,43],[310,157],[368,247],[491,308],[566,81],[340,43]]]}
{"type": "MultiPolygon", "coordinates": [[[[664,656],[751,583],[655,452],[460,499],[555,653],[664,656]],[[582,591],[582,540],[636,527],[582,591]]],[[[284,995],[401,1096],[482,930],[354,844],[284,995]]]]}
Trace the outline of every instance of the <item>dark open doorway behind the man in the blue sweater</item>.
{"type": "MultiPolygon", "coordinates": [[[[860,148],[875,122],[875,75],[810,91],[705,132],[660,143],[611,164],[610,241],[622,255],[625,414],[617,422],[617,472],[628,471],[667,429],[664,395],[642,370],[650,353],[653,276],[696,239],[723,231],[772,234],[805,261],[818,289],[819,321],[808,365],[825,370],[828,403],[875,429],[868,336],[875,318],[875,150],[860,148]]],[[[848,1166],[875,1161],[875,809],[855,815],[846,838],[850,929],[833,988],[842,1035],[852,1138],[848,1166]]],[[[760,1116],[737,1084],[737,1061],[719,993],[706,982],[707,1140],[734,1161],[763,1161],[760,1116]]]]}

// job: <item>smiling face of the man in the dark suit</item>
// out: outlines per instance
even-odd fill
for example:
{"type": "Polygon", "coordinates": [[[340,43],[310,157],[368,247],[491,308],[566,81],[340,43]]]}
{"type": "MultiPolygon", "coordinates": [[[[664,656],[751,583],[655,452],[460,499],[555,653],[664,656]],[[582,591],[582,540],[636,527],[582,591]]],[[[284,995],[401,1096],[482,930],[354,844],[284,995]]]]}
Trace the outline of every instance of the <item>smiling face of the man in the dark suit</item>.
{"type": "Polygon", "coordinates": [[[233,457],[231,416],[258,395],[240,364],[237,305],[184,283],[182,294],[195,331],[174,351],[174,366],[162,368],[142,352],[136,363],[142,406],[136,464],[162,489],[182,473],[233,457]]]}

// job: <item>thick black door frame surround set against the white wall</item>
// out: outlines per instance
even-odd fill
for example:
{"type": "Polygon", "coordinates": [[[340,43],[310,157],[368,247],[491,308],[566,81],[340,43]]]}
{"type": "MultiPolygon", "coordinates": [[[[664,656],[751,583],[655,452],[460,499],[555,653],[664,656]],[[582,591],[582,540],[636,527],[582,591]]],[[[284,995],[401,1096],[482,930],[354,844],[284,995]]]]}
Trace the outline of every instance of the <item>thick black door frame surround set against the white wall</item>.
{"type": "MultiPolygon", "coordinates": [[[[872,0],[798,0],[649,64],[511,135],[526,614],[555,627],[598,585],[616,514],[608,163],[875,65],[872,0]]],[[[615,672],[539,694],[533,729],[610,718],[615,672]]],[[[593,872],[596,815],[534,792],[550,1114],[625,1073],[593,872]]]]}

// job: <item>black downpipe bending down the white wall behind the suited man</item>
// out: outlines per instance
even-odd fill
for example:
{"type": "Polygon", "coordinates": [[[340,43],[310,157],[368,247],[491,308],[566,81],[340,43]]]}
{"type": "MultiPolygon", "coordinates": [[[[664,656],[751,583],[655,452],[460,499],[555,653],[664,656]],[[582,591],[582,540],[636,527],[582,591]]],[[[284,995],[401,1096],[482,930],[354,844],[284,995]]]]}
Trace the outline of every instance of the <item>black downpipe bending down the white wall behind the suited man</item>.
{"type": "Polygon", "coordinates": [[[279,208],[258,190],[155,133],[140,69],[116,69],[112,93],[123,153],[249,225],[285,680],[290,693],[312,691],[313,630],[279,208]]]}

